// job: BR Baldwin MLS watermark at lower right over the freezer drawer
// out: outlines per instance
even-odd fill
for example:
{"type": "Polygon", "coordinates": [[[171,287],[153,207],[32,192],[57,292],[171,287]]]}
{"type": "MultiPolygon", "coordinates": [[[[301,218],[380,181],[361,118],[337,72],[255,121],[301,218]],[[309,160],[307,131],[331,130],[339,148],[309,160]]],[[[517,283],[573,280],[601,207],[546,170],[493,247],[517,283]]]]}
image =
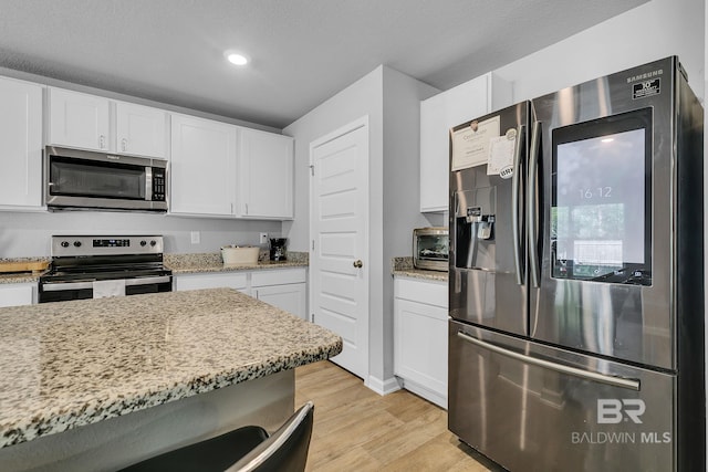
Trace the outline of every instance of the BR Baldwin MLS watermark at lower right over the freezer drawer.
{"type": "MultiPolygon", "coordinates": [[[[597,424],[643,424],[644,400],[637,398],[597,399],[597,424]]],[[[633,428],[636,429],[636,428],[633,428]]],[[[669,431],[572,431],[573,444],[664,444],[671,442],[669,431]]]]}

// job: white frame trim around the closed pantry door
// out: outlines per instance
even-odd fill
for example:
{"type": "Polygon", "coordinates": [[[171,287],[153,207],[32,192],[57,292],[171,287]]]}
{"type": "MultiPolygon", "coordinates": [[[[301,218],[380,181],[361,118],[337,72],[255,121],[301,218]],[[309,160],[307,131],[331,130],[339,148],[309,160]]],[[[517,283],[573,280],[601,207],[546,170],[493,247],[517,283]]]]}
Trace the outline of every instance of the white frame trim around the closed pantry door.
{"type": "MultiPolygon", "coordinates": [[[[371,287],[369,287],[369,268],[371,268],[371,249],[369,249],[369,178],[368,178],[368,171],[369,171],[369,159],[371,159],[371,136],[369,136],[369,132],[368,132],[368,115],[364,115],[351,123],[347,123],[344,126],[341,126],[339,128],[335,128],[333,132],[326,133],[325,135],[312,140],[310,143],[310,150],[309,150],[309,165],[310,165],[310,204],[309,204],[309,210],[310,210],[310,223],[309,223],[309,248],[308,248],[308,252],[309,252],[309,256],[310,256],[310,270],[308,271],[308,308],[309,308],[309,313],[308,313],[308,321],[310,321],[311,323],[314,322],[314,311],[315,311],[315,303],[314,303],[314,283],[313,283],[313,275],[314,275],[314,270],[313,268],[316,268],[316,265],[314,265],[314,261],[315,261],[315,253],[313,251],[313,245],[314,245],[314,235],[316,233],[316,224],[315,224],[315,218],[314,218],[314,179],[312,178],[313,175],[313,169],[314,169],[314,158],[313,158],[313,154],[314,154],[314,149],[326,144],[330,143],[334,139],[337,139],[348,133],[353,133],[360,128],[366,128],[367,133],[367,153],[366,153],[366,158],[363,159],[364,161],[362,162],[362,168],[363,168],[363,172],[366,176],[366,178],[364,179],[364,183],[366,185],[365,188],[365,198],[364,198],[364,204],[362,206],[362,208],[366,211],[366,218],[364,218],[364,241],[362,242],[362,258],[364,259],[365,263],[364,266],[361,269],[363,271],[363,279],[365,282],[365,286],[366,286],[366,296],[365,296],[365,301],[362,302],[362,306],[366,307],[366,316],[364,316],[362,318],[363,321],[363,326],[362,329],[364,331],[364,333],[366,334],[366,353],[367,353],[367,361],[366,361],[366,371],[363,373],[363,380],[364,384],[367,385],[368,384],[368,376],[369,376],[369,371],[371,371],[371,346],[369,346],[369,325],[371,325],[371,319],[369,319],[369,312],[371,312],[371,297],[369,297],[369,292],[371,292],[371,287]]],[[[316,170],[315,170],[316,171],[316,170]]]]}

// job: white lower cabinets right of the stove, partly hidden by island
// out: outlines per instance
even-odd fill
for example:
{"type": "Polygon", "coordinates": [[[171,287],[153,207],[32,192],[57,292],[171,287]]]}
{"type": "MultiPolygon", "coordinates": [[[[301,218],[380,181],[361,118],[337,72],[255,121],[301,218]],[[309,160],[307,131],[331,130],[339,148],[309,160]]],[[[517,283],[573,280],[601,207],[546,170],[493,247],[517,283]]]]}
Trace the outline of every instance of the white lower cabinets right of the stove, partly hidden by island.
{"type": "Polygon", "coordinates": [[[175,290],[230,287],[306,319],[304,268],[175,275],[175,290]]]}

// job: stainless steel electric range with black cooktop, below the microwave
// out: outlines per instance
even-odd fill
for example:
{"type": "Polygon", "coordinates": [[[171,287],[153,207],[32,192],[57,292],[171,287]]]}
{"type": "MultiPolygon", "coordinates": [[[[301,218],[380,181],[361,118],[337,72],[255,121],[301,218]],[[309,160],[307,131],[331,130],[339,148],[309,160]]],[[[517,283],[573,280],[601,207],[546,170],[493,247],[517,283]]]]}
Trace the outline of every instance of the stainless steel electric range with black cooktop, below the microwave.
{"type": "Polygon", "coordinates": [[[39,302],[170,292],[160,235],[54,235],[39,302]]]}

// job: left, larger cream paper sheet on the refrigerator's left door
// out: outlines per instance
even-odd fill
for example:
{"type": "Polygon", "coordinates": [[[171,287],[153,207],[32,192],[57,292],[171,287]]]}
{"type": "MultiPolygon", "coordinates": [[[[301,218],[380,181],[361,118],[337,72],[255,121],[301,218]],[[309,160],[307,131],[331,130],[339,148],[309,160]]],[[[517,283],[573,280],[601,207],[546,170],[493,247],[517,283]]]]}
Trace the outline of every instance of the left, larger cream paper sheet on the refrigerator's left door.
{"type": "Polygon", "coordinates": [[[499,116],[483,122],[471,122],[462,129],[451,132],[452,160],[450,170],[481,166],[489,160],[489,143],[499,136],[499,116]]]}

